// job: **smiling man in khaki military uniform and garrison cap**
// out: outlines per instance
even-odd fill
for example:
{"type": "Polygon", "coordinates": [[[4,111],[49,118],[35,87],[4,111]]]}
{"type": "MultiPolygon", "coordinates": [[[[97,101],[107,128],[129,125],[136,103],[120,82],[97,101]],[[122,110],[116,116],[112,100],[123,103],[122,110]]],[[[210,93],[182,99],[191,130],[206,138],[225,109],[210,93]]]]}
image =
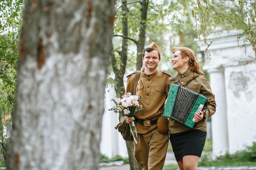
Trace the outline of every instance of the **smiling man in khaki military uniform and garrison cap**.
{"type": "MultiPolygon", "coordinates": [[[[161,61],[161,47],[152,42],[142,52],[144,66],[138,80],[136,95],[146,111],[135,114],[137,144],[134,143],[135,159],[144,170],[162,170],[168,147],[168,133],[157,130],[157,119],[164,112],[164,101],[167,97],[166,84],[170,75],[157,68],[161,61]]],[[[126,93],[133,93],[135,74],[127,76],[126,93]]],[[[125,118],[126,123],[133,121],[125,118]]]]}

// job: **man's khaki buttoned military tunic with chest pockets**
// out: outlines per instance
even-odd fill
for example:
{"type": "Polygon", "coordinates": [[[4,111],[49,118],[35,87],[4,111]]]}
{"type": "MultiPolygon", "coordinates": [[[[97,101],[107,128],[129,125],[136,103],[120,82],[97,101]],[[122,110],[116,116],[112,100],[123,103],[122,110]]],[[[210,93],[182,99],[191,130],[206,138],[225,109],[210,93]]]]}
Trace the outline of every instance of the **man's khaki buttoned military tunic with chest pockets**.
{"type": "MultiPolygon", "coordinates": [[[[139,104],[142,104],[143,111],[136,113],[135,117],[142,120],[155,120],[164,112],[164,102],[167,98],[166,84],[169,75],[163,73],[163,71],[157,69],[152,74],[143,73],[144,67],[141,68],[141,75],[136,88],[136,95],[142,96],[139,104]]],[[[135,74],[128,75],[127,87],[125,93],[132,93],[134,86],[135,74]]],[[[150,132],[157,125],[145,127],[139,123],[136,123],[137,132],[145,134],[150,132]]]]}

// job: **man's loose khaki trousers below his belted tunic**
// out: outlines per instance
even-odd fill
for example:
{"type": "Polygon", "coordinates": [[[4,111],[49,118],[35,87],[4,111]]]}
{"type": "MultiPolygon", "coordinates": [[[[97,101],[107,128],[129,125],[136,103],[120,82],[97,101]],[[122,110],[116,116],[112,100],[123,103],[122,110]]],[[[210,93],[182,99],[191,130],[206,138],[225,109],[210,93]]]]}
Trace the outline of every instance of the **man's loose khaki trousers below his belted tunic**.
{"type": "Polygon", "coordinates": [[[134,155],[144,170],[162,170],[166,157],[169,134],[161,134],[157,128],[146,134],[137,134],[134,155]]]}

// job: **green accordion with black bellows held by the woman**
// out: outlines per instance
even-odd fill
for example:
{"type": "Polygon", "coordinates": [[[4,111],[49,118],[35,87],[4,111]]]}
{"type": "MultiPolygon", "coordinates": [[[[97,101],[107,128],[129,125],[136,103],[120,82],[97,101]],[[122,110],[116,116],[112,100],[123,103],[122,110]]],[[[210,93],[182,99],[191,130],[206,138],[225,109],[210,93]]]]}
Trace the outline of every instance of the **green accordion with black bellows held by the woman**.
{"type": "Polygon", "coordinates": [[[194,113],[199,113],[206,102],[207,97],[204,95],[184,86],[171,84],[163,116],[193,128],[194,113]]]}

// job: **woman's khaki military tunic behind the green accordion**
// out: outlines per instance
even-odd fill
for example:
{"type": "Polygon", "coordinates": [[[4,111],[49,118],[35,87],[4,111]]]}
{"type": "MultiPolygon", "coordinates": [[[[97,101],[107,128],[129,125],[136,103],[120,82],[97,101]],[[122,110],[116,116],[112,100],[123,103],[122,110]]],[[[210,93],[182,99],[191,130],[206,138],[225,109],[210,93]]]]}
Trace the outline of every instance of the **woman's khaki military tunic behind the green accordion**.
{"type": "MultiPolygon", "coordinates": [[[[197,76],[197,75],[199,75],[199,74],[188,69],[183,74],[178,73],[177,79],[179,80],[180,84],[182,85],[182,84],[185,84],[186,82],[188,82],[189,80],[191,80],[193,76],[197,76]]],[[[167,89],[166,89],[167,93],[169,92],[171,84],[177,84],[177,82],[175,82],[175,79],[173,77],[170,77],[168,79],[167,89]]],[[[207,131],[206,118],[213,115],[216,111],[215,97],[214,97],[214,94],[211,92],[210,84],[209,84],[208,80],[203,75],[199,75],[198,77],[195,77],[190,82],[188,82],[184,87],[190,88],[191,90],[193,90],[197,93],[200,93],[208,98],[207,108],[204,108],[202,110],[202,112],[204,113],[204,117],[193,128],[193,129],[203,130],[206,132],[207,131]]],[[[168,129],[169,129],[170,134],[184,132],[186,130],[191,130],[191,128],[186,127],[186,126],[180,124],[179,122],[177,122],[175,120],[171,120],[171,119],[169,119],[168,126],[169,126],[168,129]]]]}

